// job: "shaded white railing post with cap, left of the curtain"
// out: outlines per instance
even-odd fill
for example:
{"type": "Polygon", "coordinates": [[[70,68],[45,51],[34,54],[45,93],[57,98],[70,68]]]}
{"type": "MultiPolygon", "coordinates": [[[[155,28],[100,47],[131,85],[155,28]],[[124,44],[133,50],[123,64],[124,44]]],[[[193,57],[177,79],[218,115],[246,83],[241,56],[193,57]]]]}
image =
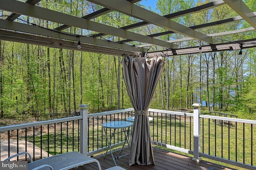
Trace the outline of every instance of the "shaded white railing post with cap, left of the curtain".
{"type": "Polygon", "coordinates": [[[88,120],[88,105],[80,105],[80,153],[87,156],[87,120],[88,120]]]}

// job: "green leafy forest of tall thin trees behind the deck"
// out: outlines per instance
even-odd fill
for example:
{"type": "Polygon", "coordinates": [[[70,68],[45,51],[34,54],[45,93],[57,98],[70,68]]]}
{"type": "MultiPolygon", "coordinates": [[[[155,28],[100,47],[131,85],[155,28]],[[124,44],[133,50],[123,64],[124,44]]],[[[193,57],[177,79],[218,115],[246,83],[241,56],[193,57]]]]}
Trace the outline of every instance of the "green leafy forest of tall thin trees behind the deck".
{"type": "MultiPolygon", "coordinates": [[[[155,12],[171,14],[210,2],[194,0],[158,0],[155,12]]],[[[254,0],[246,0],[254,12],[254,0]]],[[[140,2],[137,3],[140,5],[140,2]]],[[[42,0],[39,6],[65,11],[74,16],[85,16],[100,9],[84,0],[42,0]]],[[[149,8],[151,10],[151,8],[149,8]]],[[[0,11],[0,18],[7,14],[0,11]]],[[[228,6],[219,6],[180,18],[175,22],[195,26],[232,18],[238,14],[228,6]]],[[[46,28],[56,28],[52,22],[20,16],[17,22],[34,23],[46,28]]],[[[114,27],[139,22],[138,19],[110,12],[93,19],[114,27]]],[[[202,28],[204,34],[224,32],[249,27],[244,21],[202,28]]],[[[134,28],[145,35],[166,30],[153,25],[134,28]]],[[[97,34],[79,28],[66,32],[97,34]]],[[[218,43],[255,38],[256,32],[218,37],[218,43]]],[[[119,41],[113,36],[101,37],[119,41]]],[[[180,34],[160,37],[161,40],[183,38],[180,34]]],[[[130,44],[140,43],[132,42],[130,44]]],[[[180,47],[198,46],[196,40],[180,42],[180,47]]],[[[203,45],[203,44],[202,44],[203,45]]],[[[150,51],[160,50],[152,47],[150,51]]],[[[256,115],[256,52],[255,48],[239,51],[222,51],[164,57],[164,70],[151,107],[154,109],[191,109],[193,103],[202,103],[205,111],[219,110],[255,119],[256,115]]],[[[89,105],[89,113],[132,107],[122,77],[122,57],[57,49],[38,45],[0,40],[0,108],[1,118],[31,115],[36,120],[72,115],[80,104],[89,105]]]]}

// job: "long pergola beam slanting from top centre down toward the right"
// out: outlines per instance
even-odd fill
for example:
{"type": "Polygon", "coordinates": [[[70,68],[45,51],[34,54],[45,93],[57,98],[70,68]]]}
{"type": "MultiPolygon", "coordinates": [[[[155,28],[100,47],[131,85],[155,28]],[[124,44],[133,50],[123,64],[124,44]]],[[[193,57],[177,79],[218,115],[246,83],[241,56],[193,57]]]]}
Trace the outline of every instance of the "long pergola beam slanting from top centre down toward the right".
{"type": "Polygon", "coordinates": [[[200,40],[202,42],[206,42],[209,44],[216,43],[214,38],[206,36],[200,32],[197,32],[191,28],[183,26],[177,22],[169,20],[164,16],[160,16],[154,12],[146,10],[140,6],[134,5],[126,0],[88,0],[95,4],[99,4],[101,6],[105,6],[106,8],[110,8],[112,10],[116,10],[118,12],[124,13],[126,15],[138,18],[140,20],[144,20],[148,23],[160,26],[162,28],[166,28],[167,30],[174,31],[176,33],[191,37],[196,40],[200,40]]]}

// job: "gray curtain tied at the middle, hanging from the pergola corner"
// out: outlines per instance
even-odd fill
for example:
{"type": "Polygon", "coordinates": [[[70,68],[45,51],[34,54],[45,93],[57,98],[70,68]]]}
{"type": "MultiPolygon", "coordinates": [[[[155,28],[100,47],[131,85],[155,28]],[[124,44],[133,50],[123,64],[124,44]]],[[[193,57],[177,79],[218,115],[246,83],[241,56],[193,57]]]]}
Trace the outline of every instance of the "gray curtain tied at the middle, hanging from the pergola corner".
{"type": "Polygon", "coordinates": [[[161,56],[124,56],[122,59],[124,81],[135,110],[129,166],[154,164],[148,109],[164,62],[161,56]]]}

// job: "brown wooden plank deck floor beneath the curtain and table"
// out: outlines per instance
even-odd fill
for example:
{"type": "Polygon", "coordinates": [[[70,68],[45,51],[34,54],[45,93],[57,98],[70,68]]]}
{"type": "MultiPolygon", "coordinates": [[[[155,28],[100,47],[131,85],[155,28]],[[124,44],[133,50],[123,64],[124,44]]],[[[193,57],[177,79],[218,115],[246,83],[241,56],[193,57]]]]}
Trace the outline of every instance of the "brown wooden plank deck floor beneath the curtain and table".
{"type": "MultiPolygon", "coordinates": [[[[128,152],[129,150],[124,148],[122,154],[126,154],[128,152]]],[[[153,147],[153,152],[155,165],[128,166],[129,156],[116,159],[116,164],[126,170],[234,170],[233,168],[213,164],[204,160],[201,162],[195,162],[191,157],[175,154],[157,147],[153,147]]],[[[118,156],[119,152],[115,152],[114,154],[118,156]]],[[[102,170],[115,166],[110,154],[108,154],[105,159],[104,154],[94,156],[94,158],[99,160],[102,170]]],[[[90,163],[73,170],[98,170],[98,166],[94,163],[90,163]]]]}

